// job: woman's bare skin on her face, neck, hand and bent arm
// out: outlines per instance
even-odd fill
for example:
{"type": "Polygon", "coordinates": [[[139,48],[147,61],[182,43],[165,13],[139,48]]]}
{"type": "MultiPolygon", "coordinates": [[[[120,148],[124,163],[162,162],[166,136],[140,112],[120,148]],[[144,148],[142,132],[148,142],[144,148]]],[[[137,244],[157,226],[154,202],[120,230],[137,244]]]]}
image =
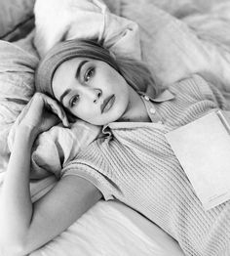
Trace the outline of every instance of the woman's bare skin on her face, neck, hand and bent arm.
{"type": "MultiPolygon", "coordinates": [[[[53,90],[57,100],[68,90],[62,98],[63,107],[96,125],[113,121],[149,121],[142,100],[114,68],[99,61],[85,60],[87,63],[76,77],[82,61],[67,61],[55,73],[53,90]],[[104,106],[106,99],[113,101],[104,106]]],[[[7,256],[25,255],[44,245],[102,197],[92,183],[70,175],[61,178],[56,187],[38,201],[31,202],[32,145],[40,133],[56,125],[59,119],[68,126],[63,108],[41,93],[33,96],[20,119],[0,197],[0,245],[7,256]]]]}

